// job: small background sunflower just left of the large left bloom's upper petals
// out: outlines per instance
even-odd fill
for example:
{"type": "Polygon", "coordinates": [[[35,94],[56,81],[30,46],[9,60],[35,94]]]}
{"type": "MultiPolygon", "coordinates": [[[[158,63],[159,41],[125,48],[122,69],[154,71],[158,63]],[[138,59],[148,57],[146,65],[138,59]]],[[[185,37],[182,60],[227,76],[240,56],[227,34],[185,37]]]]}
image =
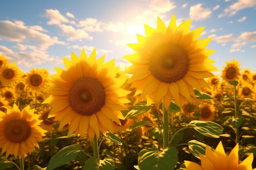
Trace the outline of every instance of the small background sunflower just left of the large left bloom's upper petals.
{"type": "Polygon", "coordinates": [[[48,83],[48,75],[49,73],[45,68],[32,68],[25,78],[27,88],[35,92],[45,89],[48,83]]]}

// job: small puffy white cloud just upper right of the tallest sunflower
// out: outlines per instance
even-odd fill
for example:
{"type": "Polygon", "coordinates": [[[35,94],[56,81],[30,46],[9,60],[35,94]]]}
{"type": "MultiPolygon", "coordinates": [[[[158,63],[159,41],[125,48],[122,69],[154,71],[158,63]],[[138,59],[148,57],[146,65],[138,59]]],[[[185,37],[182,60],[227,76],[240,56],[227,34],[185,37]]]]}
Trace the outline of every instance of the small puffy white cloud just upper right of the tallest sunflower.
{"type": "Polygon", "coordinates": [[[202,3],[190,7],[189,16],[192,20],[204,20],[211,17],[211,9],[202,8],[202,3]]]}

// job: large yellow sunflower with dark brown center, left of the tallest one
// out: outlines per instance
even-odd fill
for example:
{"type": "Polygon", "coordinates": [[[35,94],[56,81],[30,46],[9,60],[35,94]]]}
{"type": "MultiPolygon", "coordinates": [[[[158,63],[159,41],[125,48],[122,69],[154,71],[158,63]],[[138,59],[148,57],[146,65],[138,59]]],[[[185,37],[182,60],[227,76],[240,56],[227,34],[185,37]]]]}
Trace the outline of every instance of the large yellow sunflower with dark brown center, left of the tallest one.
{"type": "Polygon", "coordinates": [[[124,96],[126,91],[120,86],[126,78],[115,78],[118,68],[114,60],[104,62],[102,56],[96,60],[96,50],[87,58],[82,50],[80,58],[73,52],[71,61],[63,57],[67,70],[55,67],[56,75],[52,75],[54,86],[45,92],[50,94],[44,103],[53,105],[48,117],[60,121],[60,128],[70,123],[68,136],[75,131],[84,138],[92,140],[94,134],[99,137],[100,131],[112,130],[111,120],[121,124],[124,119],[120,110],[127,110],[124,103],[130,101],[124,96]]]}

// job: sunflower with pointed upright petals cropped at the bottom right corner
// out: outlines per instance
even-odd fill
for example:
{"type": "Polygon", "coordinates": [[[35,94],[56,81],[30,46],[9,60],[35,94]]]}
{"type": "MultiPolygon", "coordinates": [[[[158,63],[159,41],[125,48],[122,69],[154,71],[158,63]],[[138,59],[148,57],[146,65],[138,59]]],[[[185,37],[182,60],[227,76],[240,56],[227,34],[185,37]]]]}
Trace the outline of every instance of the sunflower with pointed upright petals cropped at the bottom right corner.
{"type": "MultiPolygon", "coordinates": [[[[226,157],[222,142],[218,144],[215,152],[206,146],[205,156],[200,154],[201,166],[191,161],[184,161],[187,170],[252,170],[253,153],[238,165],[238,144],[226,157]]],[[[254,168],[253,170],[256,170],[254,168]]]]}

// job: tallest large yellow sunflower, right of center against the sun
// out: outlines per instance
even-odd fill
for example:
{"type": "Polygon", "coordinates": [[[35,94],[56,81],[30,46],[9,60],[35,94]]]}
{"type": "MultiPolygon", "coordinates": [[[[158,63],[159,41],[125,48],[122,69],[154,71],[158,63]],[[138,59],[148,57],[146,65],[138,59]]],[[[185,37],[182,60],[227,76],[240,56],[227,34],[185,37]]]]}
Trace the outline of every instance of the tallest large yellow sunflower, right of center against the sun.
{"type": "Polygon", "coordinates": [[[146,37],[137,35],[139,43],[128,44],[136,52],[124,57],[133,64],[127,69],[132,74],[128,83],[137,87],[135,95],[148,96],[148,105],[158,106],[163,98],[167,109],[172,98],[181,105],[181,96],[189,101],[195,96],[193,88],[210,88],[204,78],[218,71],[208,57],[215,50],[205,49],[211,38],[198,40],[204,27],[189,32],[190,24],[185,20],[177,27],[173,15],[166,28],[157,18],[157,29],[145,25],[146,37]]]}

